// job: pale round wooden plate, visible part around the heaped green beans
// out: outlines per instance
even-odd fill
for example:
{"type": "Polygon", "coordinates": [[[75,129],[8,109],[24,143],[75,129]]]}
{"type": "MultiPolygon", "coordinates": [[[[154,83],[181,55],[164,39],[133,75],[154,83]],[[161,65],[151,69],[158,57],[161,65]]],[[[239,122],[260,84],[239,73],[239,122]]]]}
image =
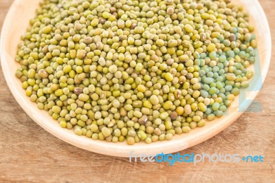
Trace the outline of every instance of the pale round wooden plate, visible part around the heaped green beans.
{"type": "MultiPolygon", "coordinates": [[[[257,0],[240,0],[239,3],[242,3],[243,7],[250,12],[250,19],[254,22],[256,39],[259,43],[259,55],[254,65],[255,74],[251,80],[250,87],[242,89],[241,95],[234,100],[227,116],[208,122],[205,127],[194,129],[190,133],[176,135],[170,141],[153,142],[151,144],[140,142],[130,146],[126,142],[112,143],[92,140],[85,136],[77,136],[72,130],[61,128],[58,122],[53,120],[46,111],[39,110],[36,107],[36,103],[32,103],[30,98],[25,96],[25,91],[21,87],[21,81],[14,76],[15,71],[19,67],[19,64],[14,61],[14,57],[20,36],[25,32],[29,25],[29,20],[34,17],[35,9],[39,6],[38,0],[15,0],[5,18],[1,34],[1,65],[3,74],[14,98],[25,112],[43,129],[69,144],[88,151],[120,157],[129,157],[131,151],[133,151],[133,154],[181,151],[208,140],[230,126],[252,103],[267,75],[271,56],[271,36],[265,13],[257,0]]],[[[251,67],[250,69],[253,68],[251,67]]]]}

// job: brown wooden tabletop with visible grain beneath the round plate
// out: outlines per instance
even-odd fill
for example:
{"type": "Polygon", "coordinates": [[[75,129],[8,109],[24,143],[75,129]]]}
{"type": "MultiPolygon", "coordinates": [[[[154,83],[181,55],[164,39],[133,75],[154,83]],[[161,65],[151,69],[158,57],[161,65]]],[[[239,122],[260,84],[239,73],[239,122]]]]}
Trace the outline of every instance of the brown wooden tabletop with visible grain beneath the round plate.
{"type": "MultiPolygon", "coordinates": [[[[275,43],[275,1],[260,2],[275,43]]],[[[0,0],[0,30],[11,3],[0,0]]],[[[275,47],[272,51],[274,57],[275,47]]],[[[217,136],[180,152],[262,155],[263,162],[169,166],[91,153],[52,136],[17,104],[0,69],[0,182],[275,182],[274,72],[272,61],[256,98],[262,111],[246,112],[217,136]]]]}

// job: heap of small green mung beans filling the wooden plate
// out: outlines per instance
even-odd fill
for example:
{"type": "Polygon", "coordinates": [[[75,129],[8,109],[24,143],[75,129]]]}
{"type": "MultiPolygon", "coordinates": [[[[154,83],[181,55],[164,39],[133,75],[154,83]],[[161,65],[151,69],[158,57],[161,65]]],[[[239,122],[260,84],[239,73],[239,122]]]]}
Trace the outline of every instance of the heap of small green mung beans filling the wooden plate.
{"type": "Polygon", "coordinates": [[[230,0],[44,0],[21,37],[25,94],[79,136],[171,140],[226,113],[254,75],[230,0]]]}

